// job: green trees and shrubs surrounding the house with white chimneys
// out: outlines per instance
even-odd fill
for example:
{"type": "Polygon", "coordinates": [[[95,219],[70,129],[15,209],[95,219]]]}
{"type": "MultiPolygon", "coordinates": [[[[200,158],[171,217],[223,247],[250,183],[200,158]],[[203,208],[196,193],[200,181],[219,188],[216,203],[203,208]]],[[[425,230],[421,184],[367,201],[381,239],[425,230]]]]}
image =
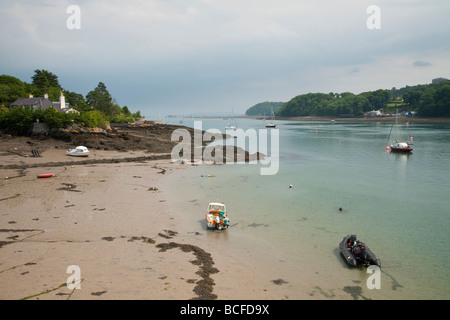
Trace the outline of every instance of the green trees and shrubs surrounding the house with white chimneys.
{"type": "Polygon", "coordinates": [[[72,123],[87,127],[104,127],[108,123],[134,122],[141,118],[140,111],[132,113],[127,106],[120,107],[106,85],[99,82],[86,97],[80,93],[64,90],[58,76],[47,70],[35,70],[32,82],[23,82],[9,75],[0,76],[0,130],[26,133],[36,121],[44,122],[49,128],[65,128],[72,123]],[[20,98],[43,97],[48,94],[51,101],[58,101],[63,92],[66,102],[79,113],[61,113],[56,109],[34,110],[30,106],[9,106],[20,98]]]}

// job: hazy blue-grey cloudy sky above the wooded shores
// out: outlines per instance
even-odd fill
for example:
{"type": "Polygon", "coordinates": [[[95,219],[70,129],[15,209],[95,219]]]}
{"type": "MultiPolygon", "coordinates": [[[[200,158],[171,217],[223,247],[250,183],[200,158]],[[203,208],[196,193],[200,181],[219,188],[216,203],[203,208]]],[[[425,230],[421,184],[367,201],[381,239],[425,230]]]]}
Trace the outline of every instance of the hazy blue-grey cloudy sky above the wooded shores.
{"type": "Polygon", "coordinates": [[[0,16],[0,74],[103,82],[147,118],[450,78],[448,0],[0,0],[0,16]]]}

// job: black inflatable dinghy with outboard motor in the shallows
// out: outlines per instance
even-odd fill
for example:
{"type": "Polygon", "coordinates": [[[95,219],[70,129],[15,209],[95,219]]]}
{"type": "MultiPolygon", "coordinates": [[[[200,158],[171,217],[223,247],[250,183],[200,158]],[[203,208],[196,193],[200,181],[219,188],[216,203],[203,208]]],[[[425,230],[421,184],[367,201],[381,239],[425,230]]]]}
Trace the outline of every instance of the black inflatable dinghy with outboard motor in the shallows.
{"type": "Polygon", "coordinates": [[[356,239],[355,235],[347,235],[339,243],[339,249],[349,265],[357,267],[361,265],[376,265],[381,267],[381,261],[365,245],[356,239]]]}

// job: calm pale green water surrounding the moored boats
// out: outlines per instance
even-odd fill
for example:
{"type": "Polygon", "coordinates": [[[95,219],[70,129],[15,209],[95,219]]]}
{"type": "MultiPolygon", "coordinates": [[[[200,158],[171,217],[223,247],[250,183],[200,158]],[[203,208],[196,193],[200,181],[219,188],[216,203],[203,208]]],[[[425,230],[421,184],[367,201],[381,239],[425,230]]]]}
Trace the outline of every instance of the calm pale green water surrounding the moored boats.
{"type": "MultiPolygon", "coordinates": [[[[237,122],[244,130],[264,129],[261,120],[237,122]]],[[[410,121],[403,130],[414,137],[414,151],[404,155],[385,150],[390,124],[277,124],[276,175],[261,176],[260,165],[230,164],[171,176],[167,187],[180,195],[171,199],[172,210],[183,211],[190,230],[216,241],[203,220],[207,204],[221,200],[232,224],[225,241],[239,254],[249,255],[243,239],[256,239],[262,245],[252,252],[272,251],[306,264],[331,291],[356,285],[373,299],[449,299],[450,125],[410,121]],[[337,248],[347,234],[356,234],[381,259],[380,290],[365,288],[365,270],[342,260],[337,248]]],[[[202,120],[204,130],[225,125],[202,120]]]]}

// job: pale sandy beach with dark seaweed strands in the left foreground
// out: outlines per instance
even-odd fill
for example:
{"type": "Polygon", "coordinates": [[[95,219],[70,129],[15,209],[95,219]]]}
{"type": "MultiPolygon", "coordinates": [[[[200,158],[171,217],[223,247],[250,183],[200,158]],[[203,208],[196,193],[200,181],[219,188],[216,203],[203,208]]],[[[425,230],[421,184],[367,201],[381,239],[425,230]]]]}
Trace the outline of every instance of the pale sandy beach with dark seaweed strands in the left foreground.
{"type": "Polygon", "coordinates": [[[167,154],[93,150],[86,162],[62,146],[32,157],[23,150],[35,140],[0,140],[2,300],[323,298],[307,274],[286,285],[180,225],[160,185],[189,165],[167,154]]]}

